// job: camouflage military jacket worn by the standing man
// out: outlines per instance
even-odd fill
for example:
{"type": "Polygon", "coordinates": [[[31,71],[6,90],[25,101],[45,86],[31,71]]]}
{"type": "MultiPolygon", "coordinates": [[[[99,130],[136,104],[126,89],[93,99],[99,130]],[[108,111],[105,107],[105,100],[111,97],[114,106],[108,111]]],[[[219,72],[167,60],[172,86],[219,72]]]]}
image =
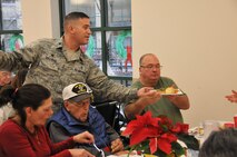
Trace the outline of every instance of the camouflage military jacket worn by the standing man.
{"type": "Polygon", "coordinates": [[[24,84],[40,84],[60,99],[63,87],[86,82],[96,99],[127,101],[137,98],[137,89],[126,88],[107,76],[81,50],[70,51],[61,39],[40,39],[13,52],[0,51],[0,68],[17,70],[30,67],[24,84]]]}

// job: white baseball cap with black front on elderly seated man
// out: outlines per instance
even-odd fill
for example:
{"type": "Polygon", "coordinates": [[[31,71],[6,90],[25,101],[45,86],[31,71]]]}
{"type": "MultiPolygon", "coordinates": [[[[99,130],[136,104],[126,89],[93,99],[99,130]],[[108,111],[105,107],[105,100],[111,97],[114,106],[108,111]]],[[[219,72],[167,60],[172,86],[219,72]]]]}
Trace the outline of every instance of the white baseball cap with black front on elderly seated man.
{"type": "Polygon", "coordinates": [[[92,98],[92,90],[83,82],[71,84],[62,90],[63,100],[73,100],[79,102],[86,98],[92,98]]]}

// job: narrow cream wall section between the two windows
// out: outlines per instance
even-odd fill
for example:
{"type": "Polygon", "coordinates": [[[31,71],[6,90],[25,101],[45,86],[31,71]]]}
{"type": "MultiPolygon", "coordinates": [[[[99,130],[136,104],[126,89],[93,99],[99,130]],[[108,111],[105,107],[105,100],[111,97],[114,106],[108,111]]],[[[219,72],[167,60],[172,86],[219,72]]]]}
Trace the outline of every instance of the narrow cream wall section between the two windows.
{"type": "Polygon", "coordinates": [[[58,0],[22,0],[21,8],[24,43],[60,36],[58,0]]]}

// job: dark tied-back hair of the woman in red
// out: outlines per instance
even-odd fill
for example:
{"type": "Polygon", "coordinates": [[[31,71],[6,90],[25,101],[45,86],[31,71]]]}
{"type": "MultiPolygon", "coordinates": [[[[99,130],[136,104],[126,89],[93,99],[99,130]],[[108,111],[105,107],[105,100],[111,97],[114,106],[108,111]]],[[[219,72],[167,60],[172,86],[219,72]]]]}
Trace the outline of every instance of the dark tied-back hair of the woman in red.
{"type": "Polygon", "coordinates": [[[0,106],[12,102],[12,107],[21,117],[21,125],[26,124],[26,107],[31,107],[37,110],[42,102],[51,96],[50,91],[37,84],[27,84],[19,89],[14,89],[12,86],[4,86],[0,90],[0,106]]]}

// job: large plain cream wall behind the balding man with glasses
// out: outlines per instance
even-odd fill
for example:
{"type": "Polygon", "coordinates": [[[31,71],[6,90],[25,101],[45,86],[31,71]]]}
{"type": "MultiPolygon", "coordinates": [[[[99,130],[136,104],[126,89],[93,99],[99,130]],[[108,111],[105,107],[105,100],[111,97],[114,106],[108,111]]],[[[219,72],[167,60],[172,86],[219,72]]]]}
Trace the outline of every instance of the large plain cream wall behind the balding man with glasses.
{"type": "Polygon", "coordinates": [[[156,53],[161,75],[187,92],[186,122],[233,120],[237,104],[224,97],[237,90],[236,0],[131,0],[134,77],[138,60],[156,53]]]}

